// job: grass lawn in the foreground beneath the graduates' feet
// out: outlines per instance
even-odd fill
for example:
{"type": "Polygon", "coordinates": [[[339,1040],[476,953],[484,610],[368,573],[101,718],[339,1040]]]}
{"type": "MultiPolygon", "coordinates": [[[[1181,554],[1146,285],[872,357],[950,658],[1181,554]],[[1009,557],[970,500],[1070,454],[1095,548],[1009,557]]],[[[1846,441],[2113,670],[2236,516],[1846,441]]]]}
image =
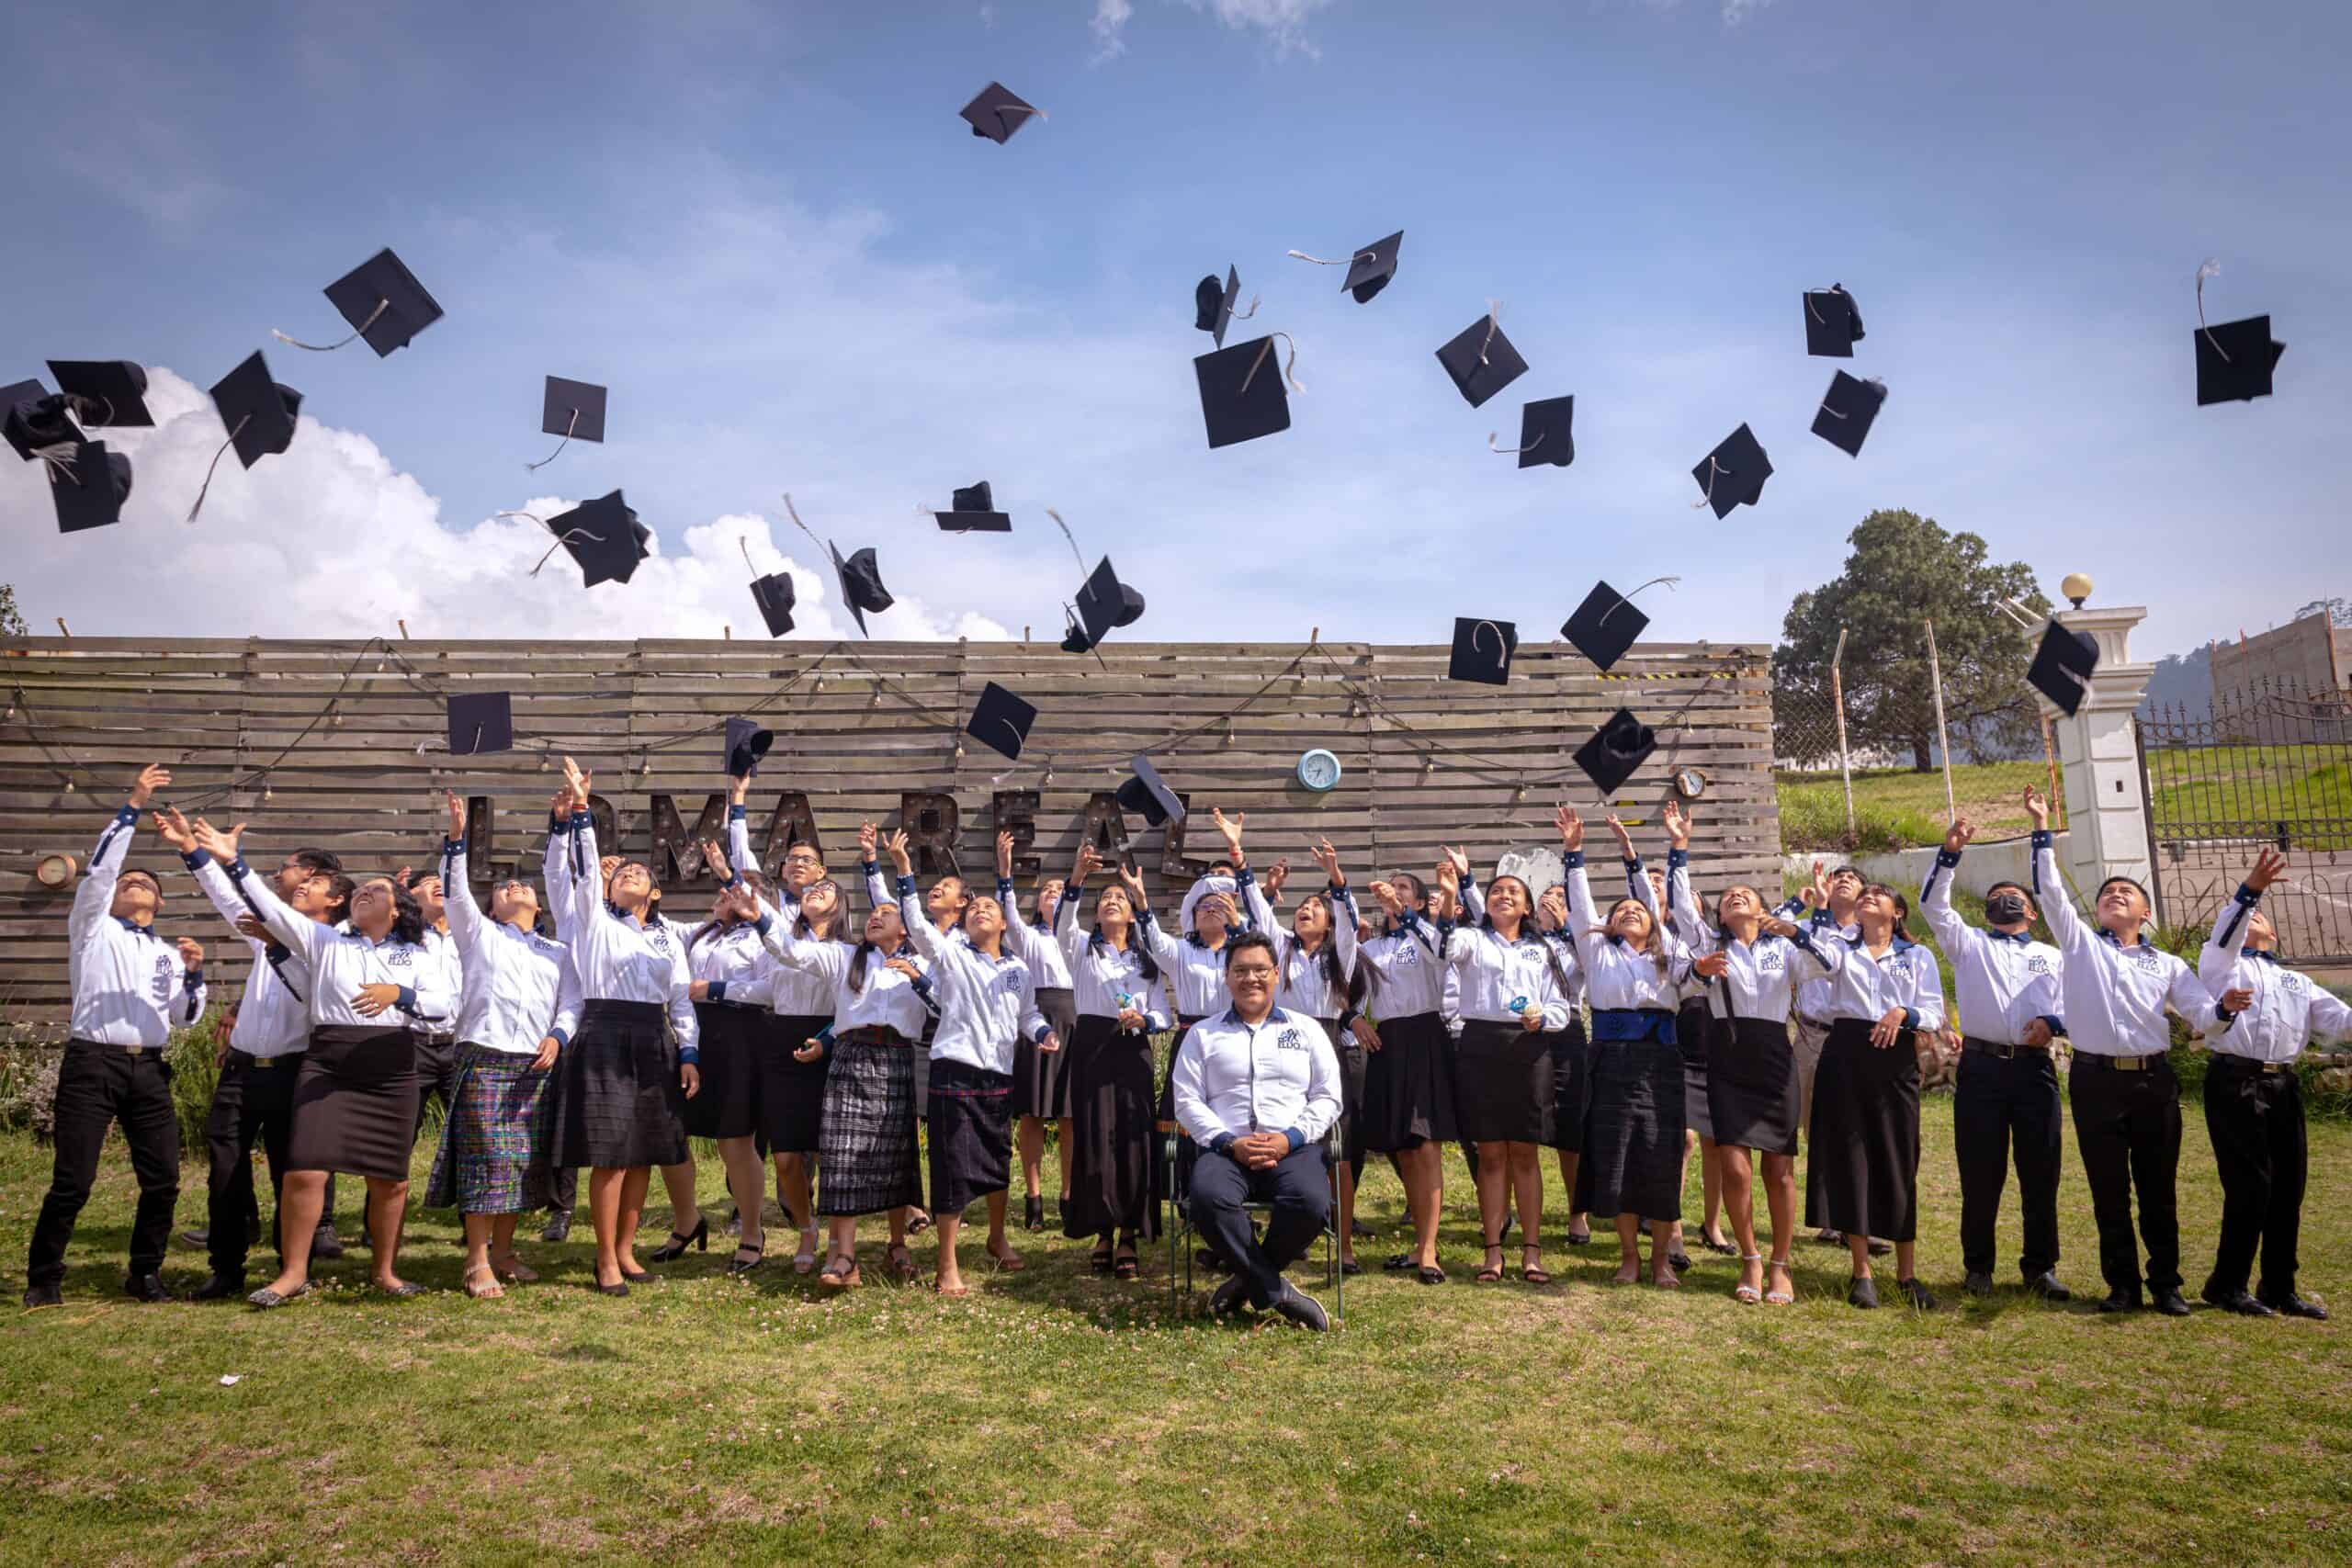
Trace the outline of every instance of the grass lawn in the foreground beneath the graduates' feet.
{"type": "MultiPolygon", "coordinates": [[[[1555,1246],[1548,1288],[1472,1286],[1456,1166],[1454,1284],[1374,1267],[1327,1338],[1204,1324],[1169,1307],[1157,1267],[1122,1286],[1047,1239],[1025,1274],[955,1305],[875,1284],[821,1300],[774,1265],[739,1284],[717,1246],[604,1300],[583,1288],[586,1241],[524,1246],[546,1281],[468,1302],[442,1215],[412,1225],[405,1265],[437,1288],[416,1302],[355,1288],[355,1248],[327,1269],[336,1288],[285,1312],[139,1307],[115,1295],[132,1178],[111,1150],[66,1307],[16,1314],[0,1340],[0,1556],[2352,1559],[2352,1312],[2105,1319],[2009,1288],[1962,1305],[1950,1117],[1929,1100],[1922,1274],[1950,1298],[1936,1314],[1849,1309],[1844,1253],[1813,1244],[1797,1248],[1795,1307],[1736,1305],[1722,1258],[1679,1293],[1609,1288],[1606,1246],[1555,1246]]],[[[2194,1293],[2218,1211],[2194,1105],[2180,1171],[2194,1293]]],[[[200,1166],[186,1180],[193,1225],[200,1166]]],[[[42,1150],[0,1143],[14,1258],[45,1182],[42,1150]]],[[[2305,1288],[2338,1307],[2347,1190],[2352,1128],[2314,1124],[2305,1288]]],[[[703,1192],[720,1192],[708,1161],[703,1192]]],[[[1399,1215],[1385,1171],[1367,1211],[1399,1215]]],[[[666,1220],[647,1215],[647,1241],[666,1220]]],[[[2016,1234],[2009,1213],[2004,1286],[2016,1234]]],[[[2060,1272],[2096,1295],[2072,1147],[2063,1237],[2060,1272]]],[[[174,1251],[176,1284],[200,1274],[174,1251]]]]}

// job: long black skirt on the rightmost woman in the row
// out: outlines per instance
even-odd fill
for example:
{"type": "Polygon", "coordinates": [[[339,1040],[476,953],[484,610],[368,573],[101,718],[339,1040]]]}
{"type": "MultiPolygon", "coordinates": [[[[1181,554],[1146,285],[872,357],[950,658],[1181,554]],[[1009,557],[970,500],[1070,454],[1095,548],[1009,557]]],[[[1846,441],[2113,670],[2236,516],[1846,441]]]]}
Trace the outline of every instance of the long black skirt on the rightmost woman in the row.
{"type": "Polygon", "coordinates": [[[1867,1018],[1839,1018],[1813,1074],[1804,1222],[1912,1241],[1919,1225],[1919,1056],[1910,1030],[1870,1044],[1867,1018]]]}

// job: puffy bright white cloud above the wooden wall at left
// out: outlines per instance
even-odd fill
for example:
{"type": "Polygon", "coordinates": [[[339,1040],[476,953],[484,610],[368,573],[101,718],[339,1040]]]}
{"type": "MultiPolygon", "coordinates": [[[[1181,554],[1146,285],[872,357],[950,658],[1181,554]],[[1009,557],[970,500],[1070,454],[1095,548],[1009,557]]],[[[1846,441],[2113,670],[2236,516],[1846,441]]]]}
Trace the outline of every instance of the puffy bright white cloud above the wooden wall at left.
{"type": "MultiPolygon", "coordinates": [[[[781,517],[724,515],[675,541],[647,520],[654,557],[628,583],[583,590],[562,552],[532,576],[553,543],[543,527],[515,517],[445,527],[440,501],[372,440],[308,416],[287,451],[249,470],[235,454],[221,458],[205,510],[188,524],[221,421],[209,397],[169,369],[148,369],[148,407],[153,430],[108,433],[108,447],[134,465],[132,498],[113,529],[56,534],[45,468],[0,463],[19,602],[64,616],[78,632],[369,637],[407,621],[416,637],[717,637],[731,625],[760,639],[767,628],[750,602],[748,545],[762,574],[793,574],[797,637],[854,635],[830,567],[781,517]]],[[[539,496],[517,510],[553,517],[576,501],[539,496]]],[[[868,621],[891,639],[1007,635],[985,616],[903,595],[868,621]]]]}

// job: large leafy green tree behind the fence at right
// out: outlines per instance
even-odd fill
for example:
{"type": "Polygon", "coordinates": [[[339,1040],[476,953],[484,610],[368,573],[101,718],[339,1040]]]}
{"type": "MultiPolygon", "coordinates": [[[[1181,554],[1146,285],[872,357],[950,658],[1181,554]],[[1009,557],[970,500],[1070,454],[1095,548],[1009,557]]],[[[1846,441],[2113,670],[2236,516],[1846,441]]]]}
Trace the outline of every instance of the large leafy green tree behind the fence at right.
{"type": "Polygon", "coordinates": [[[2037,710],[2025,665],[2039,628],[2020,628],[2002,611],[2002,599],[2013,599],[2049,614],[2032,569],[1994,564],[1976,534],[1947,534],[1933,517],[1903,510],[1870,512],[1846,543],[1853,545],[1846,569],[1788,607],[1771,658],[1773,686],[1828,701],[1830,658],[1844,628],[1851,745],[1907,750],[1924,773],[1936,764],[1926,661],[1933,621],[1955,755],[2016,755],[2032,745],[2037,710]]]}

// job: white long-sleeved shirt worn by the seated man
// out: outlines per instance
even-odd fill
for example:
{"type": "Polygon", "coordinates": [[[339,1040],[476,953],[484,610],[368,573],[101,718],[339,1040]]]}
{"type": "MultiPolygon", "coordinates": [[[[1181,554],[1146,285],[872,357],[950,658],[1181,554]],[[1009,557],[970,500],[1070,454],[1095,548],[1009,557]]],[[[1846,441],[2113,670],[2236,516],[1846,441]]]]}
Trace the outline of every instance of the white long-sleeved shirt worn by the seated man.
{"type": "Polygon", "coordinates": [[[1319,1140],[1341,1112],[1338,1053],[1310,1018],[1279,1006],[1265,1023],[1235,1009],[1185,1030],[1169,1067],[1176,1124],[1204,1150],[1244,1133],[1319,1140]]]}

